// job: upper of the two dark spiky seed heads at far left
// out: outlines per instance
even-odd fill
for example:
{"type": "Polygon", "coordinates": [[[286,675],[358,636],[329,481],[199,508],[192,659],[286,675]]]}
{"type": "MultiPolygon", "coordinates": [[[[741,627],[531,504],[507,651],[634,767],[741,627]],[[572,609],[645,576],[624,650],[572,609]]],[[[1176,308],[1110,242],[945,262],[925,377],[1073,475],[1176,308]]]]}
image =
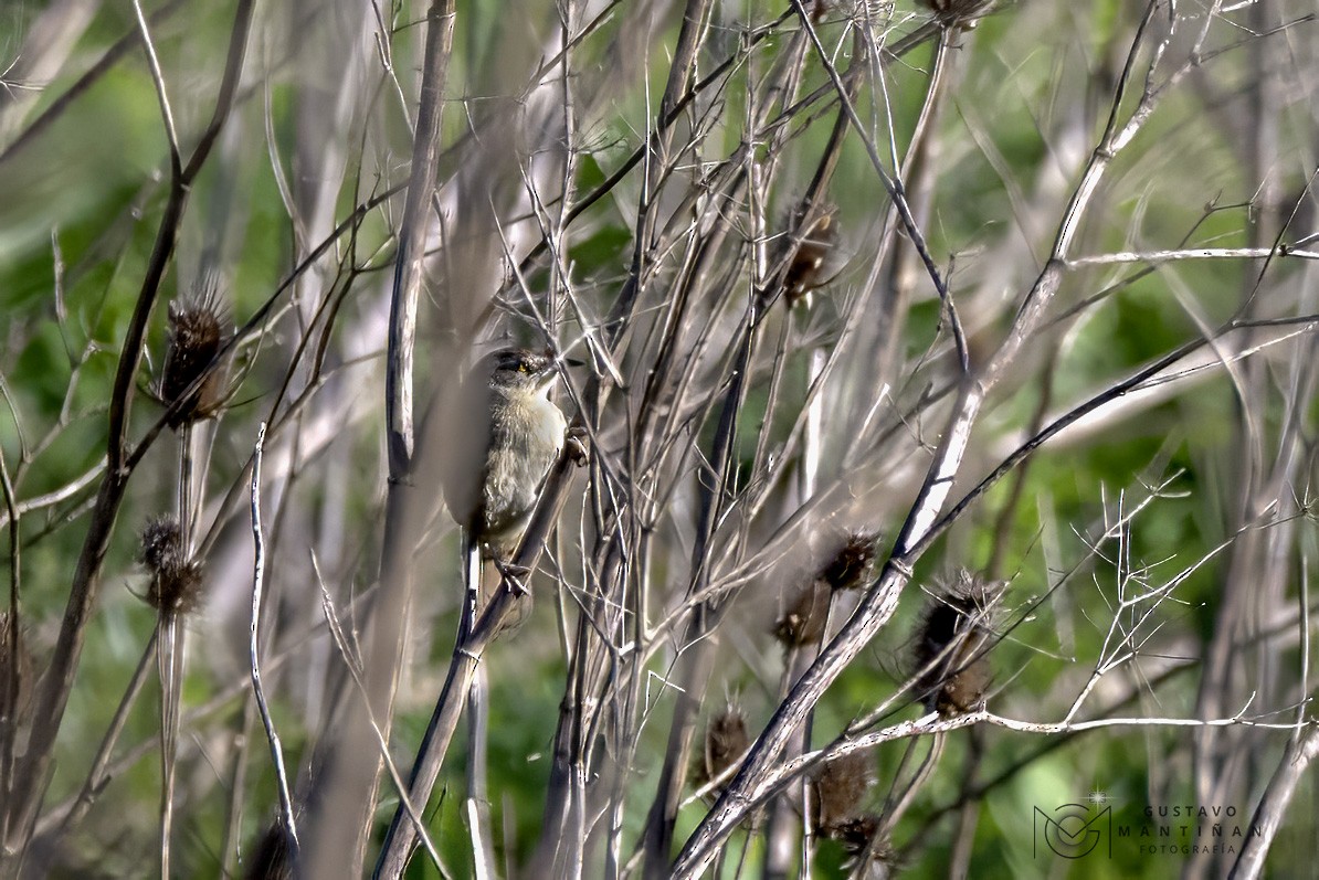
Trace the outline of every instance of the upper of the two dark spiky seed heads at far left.
{"type": "MultiPolygon", "coordinates": [[[[207,281],[199,292],[169,304],[169,343],[158,389],[161,403],[168,407],[183,398],[228,343],[230,331],[219,299],[214,281],[207,281]]],[[[211,370],[182,408],[169,418],[169,426],[179,428],[215,415],[224,403],[227,378],[226,365],[211,370]]]]}

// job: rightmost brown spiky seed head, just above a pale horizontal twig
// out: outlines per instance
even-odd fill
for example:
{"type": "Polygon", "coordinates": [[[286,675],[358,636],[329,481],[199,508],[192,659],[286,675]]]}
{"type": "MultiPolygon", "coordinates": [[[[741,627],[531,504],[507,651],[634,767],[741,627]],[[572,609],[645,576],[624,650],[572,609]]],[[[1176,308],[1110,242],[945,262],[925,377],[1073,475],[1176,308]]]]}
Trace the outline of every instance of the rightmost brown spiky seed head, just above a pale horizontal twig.
{"type": "Polygon", "coordinates": [[[967,570],[931,597],[913,649],[915,697],[944,718],[973,711],[989,689],[989,614],[1001,590],[967,570]]]}

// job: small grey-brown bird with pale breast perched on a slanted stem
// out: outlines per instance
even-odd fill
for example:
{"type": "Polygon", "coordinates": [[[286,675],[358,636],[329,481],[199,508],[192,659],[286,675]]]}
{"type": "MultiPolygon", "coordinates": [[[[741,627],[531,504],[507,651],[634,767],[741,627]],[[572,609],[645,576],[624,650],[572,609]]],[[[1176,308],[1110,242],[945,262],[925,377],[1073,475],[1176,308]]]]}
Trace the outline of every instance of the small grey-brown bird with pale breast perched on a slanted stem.
{"type": "Polygon", "coordinates": [[[463,528],[470,605],[480,559],[508,568],[563,449],[567,419],[549,399],[557,378],[551,353],[505,348],[483,357],[463,382],[443,486],[463,528]]]}

